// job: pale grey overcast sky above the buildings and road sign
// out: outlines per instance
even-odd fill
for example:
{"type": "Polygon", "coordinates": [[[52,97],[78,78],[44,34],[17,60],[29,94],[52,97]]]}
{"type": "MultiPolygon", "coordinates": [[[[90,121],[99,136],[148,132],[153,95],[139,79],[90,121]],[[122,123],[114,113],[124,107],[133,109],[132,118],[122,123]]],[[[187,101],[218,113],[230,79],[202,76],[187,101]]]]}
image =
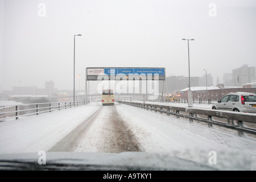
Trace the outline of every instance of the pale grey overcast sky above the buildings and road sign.
{"type": "Polygon", "coordinates": [[[166,76],[203,69],[222,81],[256,66],[256,1],[0,0],[0,90],[84,88],[86,67],[164,67],[166,76]],[[78,78],[76,78],[78,82],[78,78]],[[78,85],[78,84],[76,84],[78,85]]]}

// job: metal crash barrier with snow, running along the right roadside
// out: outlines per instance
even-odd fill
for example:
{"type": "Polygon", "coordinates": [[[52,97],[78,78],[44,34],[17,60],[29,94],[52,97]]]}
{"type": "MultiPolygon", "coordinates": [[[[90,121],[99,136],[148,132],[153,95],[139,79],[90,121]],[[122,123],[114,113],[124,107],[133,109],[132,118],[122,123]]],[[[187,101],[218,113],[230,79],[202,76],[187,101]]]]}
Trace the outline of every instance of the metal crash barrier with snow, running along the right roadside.
{"type": "Polygon", "coordinates": [[[166,113],[167,115],[176,115],[177,118],[188,118],[189,122],[200,121],[208,123],[209,127],[213,125],[226,127],[237,130],[238,135],[243,135],[243,132],[256,135],[255,127],[246,125],[256,124],[256,114],[238,113],[234,111],[210,110],[210,109],[195,109],[193,107],[177,107],[158,104],[144,104],[139,102],[118,101],[121,104],[127,104],[143,109],[155,111],[156,113],[166,113]],[[220,121],[217,121],[220,120],[220,121]],[[245,125],[246,123],[246,125],[245,125]]]}

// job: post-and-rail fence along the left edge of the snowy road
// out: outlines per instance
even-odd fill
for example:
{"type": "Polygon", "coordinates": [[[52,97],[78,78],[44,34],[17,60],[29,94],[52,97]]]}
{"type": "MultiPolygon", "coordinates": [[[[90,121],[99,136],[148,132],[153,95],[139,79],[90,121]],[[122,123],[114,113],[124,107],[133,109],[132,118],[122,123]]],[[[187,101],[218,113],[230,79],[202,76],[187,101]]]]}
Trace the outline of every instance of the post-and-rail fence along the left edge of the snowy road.
{"type": "Polygon", "coordinates": [[[77,107],[85,104],[89,104],[89,101],[49,102],[3,107],[0,108],[0,121],[5,121],[6,119],[11,118],[18,119],[20,116],[38,115],[40,113],[67,109],[69,107],[77,107]]]}

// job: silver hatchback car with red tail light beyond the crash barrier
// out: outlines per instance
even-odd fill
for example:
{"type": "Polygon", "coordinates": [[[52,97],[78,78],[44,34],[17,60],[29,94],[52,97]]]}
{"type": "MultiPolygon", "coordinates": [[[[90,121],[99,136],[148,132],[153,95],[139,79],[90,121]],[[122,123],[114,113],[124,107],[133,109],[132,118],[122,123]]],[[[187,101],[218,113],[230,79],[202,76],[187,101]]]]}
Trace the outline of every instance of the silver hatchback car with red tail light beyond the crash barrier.
{"type": "Polygon", "coordinates": [[[256,113],[256,94],[248,92],[226,94],[212,105],[212,109],[256,113]]]}

